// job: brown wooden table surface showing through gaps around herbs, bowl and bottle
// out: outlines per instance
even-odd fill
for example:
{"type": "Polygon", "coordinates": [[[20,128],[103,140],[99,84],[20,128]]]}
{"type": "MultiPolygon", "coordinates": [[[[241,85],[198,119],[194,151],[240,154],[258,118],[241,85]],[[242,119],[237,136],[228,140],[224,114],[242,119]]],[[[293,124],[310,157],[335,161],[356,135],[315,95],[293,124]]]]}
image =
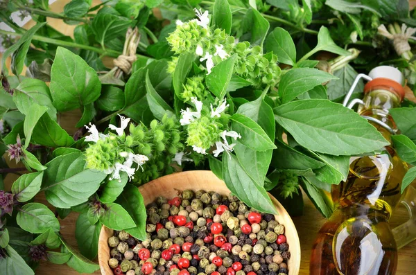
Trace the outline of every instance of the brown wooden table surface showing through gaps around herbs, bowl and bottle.
{"type": "MultiPolygon", "coordinates": [[[[69,2],[69,0],[57,0],[55,3],[51,5],[51,10],[55,12],[62,12],[65,3],[69,2]]],[[[93,5],[96,3],[100,3],[98,0],[93,0],[93,5]]],[[[416,0],[410,1],[410,6],[416,6],[416,0]]],[[[51,19],[49,18],[49,23],[54,27],[60,30],[61,33],[65,35],[73,36],[73,28],[75,26],[69,26],[64,24],[59,19],[51,19]]],[[[33,22],[29,22],[26,24],[26,27],[33,26],[33,22]]],[[[111,60],[104,60],[105,64],[111,64],[111,60]],[[106,62],[107,61],[107,62],[106,62]]],[[[75,110],[71,112],[66,112],[64,114],[60,114],[60,122],[62,127],[69,132],[69,134],[73,134],[74,126],[76,122],[80,118],[80,111],[75,110]]],[[[6,184],[10,186],[12,182],[16,178],[12,175],[6,177],[6,184]]],[[[416,183],[413,183],[413,186],[416,187],[416,183]]],[[[303,194],[304,195],[304,194],[303,194]]],[[[42,195],[38,196],[36,199],[38,202],[46,203],[44,197],[42,195]]],[[[295,226],[297,227],[297,233],[299,234],[300,244],[302,247],[302,260],[301,260],[301,269],[300,274],[306,275],[309,274],[309,258],[311,256],[311,246],[313,240],[315,239],[316,233],[324,224],[325,219],[320,215],[318,210],[315,209],[312,202],[309,200],[306,195],[304,195],[304,215],[301,217],[293,218],[295,222],[295,226]]],[[[70,245],[76,247],[76,240],[74,236],[75,232],[75,223],[78,214],[71,213],[67,218],[60,221],[61,223],[61,233],[62,236],[69,242],[70,245]]],[[[400,207],[396,209],[392,215],[390,223],[392,227],[396,227],[397,224],[401,224],[408,219],[408,213],[404,207],[400,207]]],[[[0,272],[1,273],[1,272],[0,272]]],[[[77,272],[73,271],[67,265],[54,265],[52,263],[42,262],[40,267],[36,271],[37,275],[76,275],[77,272]]],[[[94,274],[98,275],[101,274],[99,271],[95,272],[94,274]]],[[[408,274],[416,274],[416,241],[413,241],[406,247],[399,250],[399,263],[397,268],[397,275],[408,275],[408,274]]]]}

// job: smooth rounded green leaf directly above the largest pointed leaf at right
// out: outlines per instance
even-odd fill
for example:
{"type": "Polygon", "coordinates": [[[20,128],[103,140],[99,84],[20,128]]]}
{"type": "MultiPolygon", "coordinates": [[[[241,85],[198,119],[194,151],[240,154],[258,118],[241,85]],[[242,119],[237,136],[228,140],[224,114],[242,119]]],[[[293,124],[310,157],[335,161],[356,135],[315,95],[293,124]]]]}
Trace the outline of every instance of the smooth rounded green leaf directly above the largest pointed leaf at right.
{"type": "Polygon", "coordinates": [[[313,87],[337,79],[331,73],[311,68],[295,68],[285,73],[279,82],[282,103],[288,103],[313,87]]]}

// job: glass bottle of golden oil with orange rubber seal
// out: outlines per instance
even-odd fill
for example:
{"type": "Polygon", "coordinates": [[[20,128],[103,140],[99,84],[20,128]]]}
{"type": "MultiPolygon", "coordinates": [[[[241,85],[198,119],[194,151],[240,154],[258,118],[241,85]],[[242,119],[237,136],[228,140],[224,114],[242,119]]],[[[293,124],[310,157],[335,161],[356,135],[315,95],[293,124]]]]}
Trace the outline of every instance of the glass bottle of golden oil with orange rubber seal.
{"type": "MultiPolygon", "coordinates": [[[[392,82],[385,78],[368,82],[364,104],[358,108],[390,142],[396,125],[388,111],[399,107],[404,95],[403,87],[392,82]]],[[[397,246],[388,220],[399,203],[407,170],[390,145],[350,159],[347,181],[332,186],[334,211],[313,244],[311,275],[395,274],[397,246]]]]}

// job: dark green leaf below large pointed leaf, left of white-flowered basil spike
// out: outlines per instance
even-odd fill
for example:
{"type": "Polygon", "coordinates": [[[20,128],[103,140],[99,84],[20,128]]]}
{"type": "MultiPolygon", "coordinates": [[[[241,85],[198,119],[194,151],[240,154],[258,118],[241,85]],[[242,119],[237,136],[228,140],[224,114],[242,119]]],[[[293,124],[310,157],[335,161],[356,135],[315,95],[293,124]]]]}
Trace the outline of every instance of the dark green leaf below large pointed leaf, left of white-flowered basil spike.
{"type": "Polygon", "coordinates": [[[69,147],[74,142],[72,136],[53,121],[49,114],[43,114],[33,129],[32,143],[56,148],[69,147]]]}

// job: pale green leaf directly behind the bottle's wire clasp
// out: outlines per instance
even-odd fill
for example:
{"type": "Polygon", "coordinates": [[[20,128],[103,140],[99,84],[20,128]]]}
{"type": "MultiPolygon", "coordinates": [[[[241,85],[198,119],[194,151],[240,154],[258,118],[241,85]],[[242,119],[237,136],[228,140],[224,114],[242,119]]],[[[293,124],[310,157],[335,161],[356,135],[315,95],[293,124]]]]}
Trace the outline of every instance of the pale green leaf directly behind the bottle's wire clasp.
{"type": "MultiPolygon", "coordinates": [[[[338,79],[331,80],[327,84],[327,94],[329,100],[336,100],[337,98],[345,96],[357,75],[358,73],[350,64],[347,64],[343,66],[343,68],[334,71],[333,76],[336,76],[338,79]]],[[[363,91],[364,82],[363,80],[360,80],[354,89],[354,93],[362,93],[363,91]]]]}

